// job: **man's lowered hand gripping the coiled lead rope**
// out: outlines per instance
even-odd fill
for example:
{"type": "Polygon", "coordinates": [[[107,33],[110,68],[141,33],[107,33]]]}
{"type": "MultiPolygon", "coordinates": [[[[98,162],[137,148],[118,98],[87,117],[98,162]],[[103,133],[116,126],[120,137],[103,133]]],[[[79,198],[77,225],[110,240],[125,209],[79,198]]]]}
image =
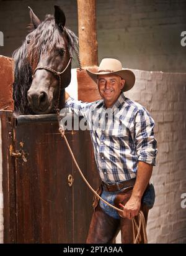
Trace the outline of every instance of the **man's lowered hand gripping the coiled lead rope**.
{"type": "Polygon", "coordinates": [[[120,213],[120,216],[131,219],[138,215],[141,206],[141,199],[131,196],[125,206],[123,206],[123,204],[120,204],[120,206],[123,207],[123,213],[120,213]]]}

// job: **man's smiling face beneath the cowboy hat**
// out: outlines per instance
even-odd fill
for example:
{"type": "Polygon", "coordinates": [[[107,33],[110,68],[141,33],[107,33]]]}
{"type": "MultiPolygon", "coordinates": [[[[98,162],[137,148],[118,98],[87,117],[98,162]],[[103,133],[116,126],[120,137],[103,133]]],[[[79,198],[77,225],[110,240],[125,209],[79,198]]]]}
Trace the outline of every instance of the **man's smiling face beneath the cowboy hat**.
{"type": "Polygon", "coordinates": [[[106,107],[110,108],[117,101],[125,80],[118,75],[98,75],[97,84],[100,96],[104,99],[106,107]]]}

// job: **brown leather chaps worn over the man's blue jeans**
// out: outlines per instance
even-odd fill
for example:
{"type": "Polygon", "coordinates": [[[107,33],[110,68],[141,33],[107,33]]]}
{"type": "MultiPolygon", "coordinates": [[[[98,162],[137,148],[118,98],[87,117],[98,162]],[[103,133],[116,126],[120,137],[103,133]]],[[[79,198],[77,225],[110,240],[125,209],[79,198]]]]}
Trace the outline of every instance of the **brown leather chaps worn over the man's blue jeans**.
{"type": "MultiPolygon", "coordinates": [[[[118,194],[115,198],[115,206],[120,208],[120,203],[125,205],[128,199],[130,199],[131,192],[132,190],[118,194]]],[[[148,207],[145,204],[141,204],[141,211],[143,211],[144,218],[147,222],[149,211],[148,207]]],[[[114,219],[102,211],[99,206],[99,201],[96,206],[94,202],[94,213],[92,215],[86,243],[113,244],[120,230],[122,235],[122,244],[132,244],[133,229],[131,220],[122,217],[120,217],[120,219],[114,219]]]]}

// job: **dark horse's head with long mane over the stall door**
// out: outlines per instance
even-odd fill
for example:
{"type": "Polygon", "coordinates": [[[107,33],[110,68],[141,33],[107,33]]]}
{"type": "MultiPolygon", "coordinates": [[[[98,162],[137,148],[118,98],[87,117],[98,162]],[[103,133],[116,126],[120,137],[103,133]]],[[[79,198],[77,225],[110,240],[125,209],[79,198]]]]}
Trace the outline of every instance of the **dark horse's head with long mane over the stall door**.
{"type": "Polygon", "coordinates": [[[78,37],[65,27],[63,10],[54,7],[54,16],[47,14],[42,22],[29,7],[29,34],[12,55],[13,98],[18,115],[55,113],[56,108],[64,107],[73,53],[79,57],[78,37]]]}

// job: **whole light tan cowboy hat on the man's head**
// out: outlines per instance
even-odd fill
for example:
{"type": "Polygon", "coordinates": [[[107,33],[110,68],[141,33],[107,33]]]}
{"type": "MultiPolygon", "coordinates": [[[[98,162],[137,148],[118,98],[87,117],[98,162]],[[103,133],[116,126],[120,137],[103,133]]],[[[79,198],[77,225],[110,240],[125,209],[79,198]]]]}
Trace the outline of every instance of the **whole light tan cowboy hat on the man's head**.
{"type": "Polygon", "coordinates": [[[95,81],[95,83],[97,83],[97,75],[119,75],[125,79],[123,92],[130,90],[135,85],[135,74],[129,69],[123,69],[121,62],[116,59],[102,59],[97,72],[94,73],[87,69],[87,73],[95,81]]]}

